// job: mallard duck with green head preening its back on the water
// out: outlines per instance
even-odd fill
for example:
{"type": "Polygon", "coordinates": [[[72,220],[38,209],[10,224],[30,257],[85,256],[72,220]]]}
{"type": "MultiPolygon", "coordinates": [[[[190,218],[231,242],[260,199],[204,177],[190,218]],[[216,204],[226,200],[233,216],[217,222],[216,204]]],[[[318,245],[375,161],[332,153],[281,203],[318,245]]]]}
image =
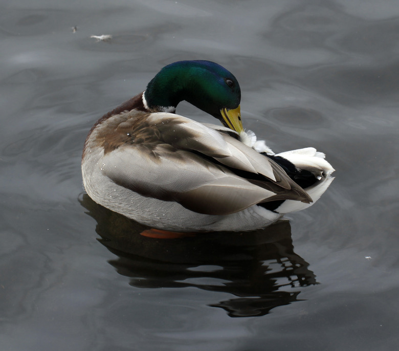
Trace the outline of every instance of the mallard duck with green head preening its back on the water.
{"type": "Polygon", "coordinates": [[[275,155],[242,127],[237,79],[211,61],[164,67],[146,90],[100,118],[82,155],[98,204],[169,231],[248,231],[311,206],[333,167],[314,148],[275,155]],[[175,114],[186,100],[217,118],[175,114]]]}

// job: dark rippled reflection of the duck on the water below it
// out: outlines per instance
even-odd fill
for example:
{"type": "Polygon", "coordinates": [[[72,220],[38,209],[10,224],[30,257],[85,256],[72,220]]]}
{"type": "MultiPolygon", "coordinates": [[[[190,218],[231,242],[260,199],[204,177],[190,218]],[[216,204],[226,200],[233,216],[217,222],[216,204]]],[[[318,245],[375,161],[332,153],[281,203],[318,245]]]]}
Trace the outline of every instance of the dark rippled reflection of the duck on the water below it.
{"type": "Polygon", "coordinates": [[[264,230],[198,234],[180,239],[140,235],[148,229],[96,204],[81,204],[97,221],[99,241],[118,256],[109,261],[140,288],[196,287],[234,298],[212,303],[231,317],[262,316],[297,301],[292,288],[315,284],[308,263],[294,253],[288,221],[264,230]]]}

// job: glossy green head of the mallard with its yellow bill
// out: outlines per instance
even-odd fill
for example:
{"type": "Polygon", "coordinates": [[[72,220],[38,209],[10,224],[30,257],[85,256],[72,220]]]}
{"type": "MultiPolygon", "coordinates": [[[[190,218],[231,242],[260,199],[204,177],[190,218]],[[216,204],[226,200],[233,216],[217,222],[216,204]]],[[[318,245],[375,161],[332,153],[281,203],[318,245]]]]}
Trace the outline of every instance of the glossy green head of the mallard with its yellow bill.
{"type": "Polygon", "coordinates": [[[238,133],[243,130],[238,81],[215,62],[168,64],[148,83],[144,97],[151,111],[174,111],[186,100],[238,133]]]}

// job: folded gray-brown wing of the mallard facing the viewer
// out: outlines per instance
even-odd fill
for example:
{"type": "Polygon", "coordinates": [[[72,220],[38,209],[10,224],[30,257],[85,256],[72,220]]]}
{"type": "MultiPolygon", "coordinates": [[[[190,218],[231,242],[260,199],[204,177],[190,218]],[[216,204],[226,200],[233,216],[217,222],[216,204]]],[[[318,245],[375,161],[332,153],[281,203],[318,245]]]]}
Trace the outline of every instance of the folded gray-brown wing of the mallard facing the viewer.
{"type": "MultiPolygon", "coordinates": [[[[132,125],[130,139],[99,162],[103,174],[126,189],[206,214],[277,198],[312,201],[280,166],[223,130],[167,113],[132,125]]],[[[126,128],[113,133],[126,135],[126,128]]]]}

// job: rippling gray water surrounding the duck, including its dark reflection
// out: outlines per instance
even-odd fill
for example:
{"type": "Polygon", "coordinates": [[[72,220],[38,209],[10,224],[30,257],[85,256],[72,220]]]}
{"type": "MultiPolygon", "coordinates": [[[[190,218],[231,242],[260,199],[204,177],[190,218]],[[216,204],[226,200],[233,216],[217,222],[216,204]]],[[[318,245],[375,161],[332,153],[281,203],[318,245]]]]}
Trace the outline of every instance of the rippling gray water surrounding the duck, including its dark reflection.
{"type": "Polygon", "coordinates": [[[389,0],[3,1],[1,349],[396,349],[398,33],[389,0]],[[326,153],[317,204],[157,240],[84,194],[93,123],[183,59],[234,73],[244,126],[274,151],[326,153]]]}

